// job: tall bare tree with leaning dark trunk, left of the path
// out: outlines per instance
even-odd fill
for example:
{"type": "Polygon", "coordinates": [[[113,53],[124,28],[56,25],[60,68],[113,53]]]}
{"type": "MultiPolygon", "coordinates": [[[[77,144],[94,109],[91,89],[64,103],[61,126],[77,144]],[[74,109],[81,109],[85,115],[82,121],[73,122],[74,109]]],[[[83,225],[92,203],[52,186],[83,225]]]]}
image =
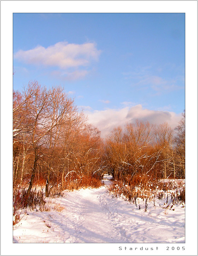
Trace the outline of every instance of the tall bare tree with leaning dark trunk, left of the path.
{"type": "Polygon", "coordinates": [[[36,174],[37,162],[39,159],[39,149],[45,143],[45,135],[53,128],[50,119],[50,91],[37,82],[29,83],[27,89],[24,89],[23,95],[27,100],[25,103],[24,123],[28,123],[28,134],[31,138],[31,146],[34,150],[34,166],[29,182],[27,197],[33,186],[36,174]],[[28,99],[28,95],[32,97],[28,99]]]}

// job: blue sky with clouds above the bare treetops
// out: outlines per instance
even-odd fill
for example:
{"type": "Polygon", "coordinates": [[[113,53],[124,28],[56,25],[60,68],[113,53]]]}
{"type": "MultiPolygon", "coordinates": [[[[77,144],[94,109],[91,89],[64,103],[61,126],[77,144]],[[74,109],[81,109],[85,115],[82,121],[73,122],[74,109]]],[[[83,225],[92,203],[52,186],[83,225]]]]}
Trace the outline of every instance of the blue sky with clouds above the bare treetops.
{"type": "Polygon", "coordinates": [[[13,89],[62,85],[109,131],[185,109],[185,13],[14,13],[13,89]],[[122,119],[122,121],[121,121],[122,119]]]}

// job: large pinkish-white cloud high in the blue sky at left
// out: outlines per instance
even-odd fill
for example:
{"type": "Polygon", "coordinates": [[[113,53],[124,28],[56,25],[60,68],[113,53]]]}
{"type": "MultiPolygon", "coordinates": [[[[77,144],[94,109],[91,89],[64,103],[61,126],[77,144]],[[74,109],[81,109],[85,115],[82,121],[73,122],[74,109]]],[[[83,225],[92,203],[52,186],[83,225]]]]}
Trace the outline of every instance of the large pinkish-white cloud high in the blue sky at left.
{"type": "Polygon", "coordinates": [[[55,45],[37,46],[34,49],[19,50],[14,58],[27,64],[56,66],[68,69],[87,66],[91,61],[97,61],[101,51],[97,50],[95,43],[68,44],[59,42],[55,45]]]}

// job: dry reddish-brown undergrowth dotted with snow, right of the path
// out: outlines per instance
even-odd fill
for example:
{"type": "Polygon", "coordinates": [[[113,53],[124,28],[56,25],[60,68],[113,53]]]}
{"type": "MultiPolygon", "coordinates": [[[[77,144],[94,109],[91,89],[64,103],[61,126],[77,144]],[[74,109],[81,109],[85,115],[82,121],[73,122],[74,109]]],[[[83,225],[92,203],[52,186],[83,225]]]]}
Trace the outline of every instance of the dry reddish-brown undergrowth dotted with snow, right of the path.
{"type": "MultiPolygon", "coordinates": [[[[172,204],[185,203],[185,184],[177,180],[156,180],[148,181],[144,177],[134,177],[128,184],[123,180],[113,180],[109,186],[110,194],[115,197],[122,197],[124,200],[132,202],[137,207],[137,199],[153,200],[166,199],[172,204]]],[[[145,207],[146,210],[146,207],[145,207]]]]}

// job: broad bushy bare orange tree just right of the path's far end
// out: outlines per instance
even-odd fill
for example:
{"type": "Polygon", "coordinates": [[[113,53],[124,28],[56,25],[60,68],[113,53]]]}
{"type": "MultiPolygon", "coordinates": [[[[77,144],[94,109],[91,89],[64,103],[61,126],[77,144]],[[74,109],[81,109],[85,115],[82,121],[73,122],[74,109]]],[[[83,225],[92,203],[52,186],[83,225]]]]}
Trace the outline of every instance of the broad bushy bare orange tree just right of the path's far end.
{"type": "Polygon", "coordinates": [[[136,173],[151,177],[153,172],[156,175],[159,163],[164,163],[166,168],[165,149],[171,136],[172,130],[166,123],[153,126],[136,120],[135,123],[127,123],[124,132],[121,127],[113,129],[106,140],[105,150],[113,177],[131,179],[136,173]]]}

